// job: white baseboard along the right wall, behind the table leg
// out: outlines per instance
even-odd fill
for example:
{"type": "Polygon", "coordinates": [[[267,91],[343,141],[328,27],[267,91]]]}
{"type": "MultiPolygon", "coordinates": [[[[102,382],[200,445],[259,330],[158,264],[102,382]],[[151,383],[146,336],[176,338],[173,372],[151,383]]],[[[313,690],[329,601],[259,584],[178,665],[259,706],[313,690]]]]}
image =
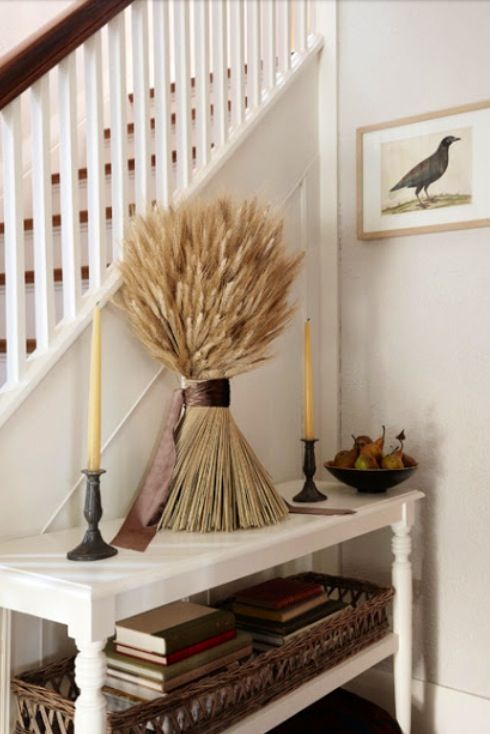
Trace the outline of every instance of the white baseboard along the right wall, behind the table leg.
{"type": "MultiPolygon", "coordinates": [[[[345,687],[394,715],[391,673],[373,668],[345,687]]],[[[488,698],[413,680],[412,700],[412,734],[488,734],[490,731],[488,698]]]]}

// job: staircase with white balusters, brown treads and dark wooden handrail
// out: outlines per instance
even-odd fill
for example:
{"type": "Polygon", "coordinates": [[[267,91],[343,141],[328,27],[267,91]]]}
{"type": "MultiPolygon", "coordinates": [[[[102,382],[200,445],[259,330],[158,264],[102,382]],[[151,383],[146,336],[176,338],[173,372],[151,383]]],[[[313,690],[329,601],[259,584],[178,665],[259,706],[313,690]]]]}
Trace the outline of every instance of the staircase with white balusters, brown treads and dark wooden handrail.
{"type": "Polygon", "coordinates": [[[307,0],[81,0],[0,64],[0,424],[321,46],[307,0]]]}

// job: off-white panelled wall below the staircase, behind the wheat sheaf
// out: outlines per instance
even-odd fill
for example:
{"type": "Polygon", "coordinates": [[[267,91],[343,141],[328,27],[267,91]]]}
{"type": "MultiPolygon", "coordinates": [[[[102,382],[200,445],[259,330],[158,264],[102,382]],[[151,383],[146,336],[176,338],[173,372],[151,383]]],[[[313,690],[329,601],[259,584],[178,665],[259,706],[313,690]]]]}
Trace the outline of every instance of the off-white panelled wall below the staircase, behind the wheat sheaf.
{"type": "MultiPolygon", "coordinates": [[[[276,480],[301,472],[302,333],[307,313],[315,326],[315,382],[320,393],[319,170],[314,61],[206,192],[258,194],[281,205],[289,246],[307,250],[307,267],[296,287],[298,312],[275,345],[275,358],[232,383],[234,416],[276,480]],[[301,126],[291,114],[297,110],[301,126]]],[[[335,333],[335,320],[331,326],[335,333]]],[[[0,537],[82,522],[83,488],[77,482],[86,457],[89,340],[86,332],[0,430],[0,537]]],[[[177,383],[165,372],[152,383],[158,365],[112,305],[103,312],[103,359],[103,442],[117,431],[103,454],[103,505],[110,518],[121,516],[130,503],[177,383]]],[[[335,374],[332,379],[335,382],[335,374]]],[[[331,419],[335,424],[334,414],[331,419]]],[[[14,615],[14,668],[49,656],[59,646],[59,633],[53,625],[14,615]]]]}

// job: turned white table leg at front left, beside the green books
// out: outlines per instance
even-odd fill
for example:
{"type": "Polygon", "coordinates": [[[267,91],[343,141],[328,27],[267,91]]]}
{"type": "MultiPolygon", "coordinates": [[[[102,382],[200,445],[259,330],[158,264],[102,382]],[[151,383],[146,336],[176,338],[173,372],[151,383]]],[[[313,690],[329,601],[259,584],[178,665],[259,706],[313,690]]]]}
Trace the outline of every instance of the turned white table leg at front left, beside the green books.
{"type": "Polygon", "coordinates": [[[105,683],[105,640],[76,640],[75,681],[80,695],[75,702],[75,734],[105,734],[106,703],[101,688],[105,683]]]}

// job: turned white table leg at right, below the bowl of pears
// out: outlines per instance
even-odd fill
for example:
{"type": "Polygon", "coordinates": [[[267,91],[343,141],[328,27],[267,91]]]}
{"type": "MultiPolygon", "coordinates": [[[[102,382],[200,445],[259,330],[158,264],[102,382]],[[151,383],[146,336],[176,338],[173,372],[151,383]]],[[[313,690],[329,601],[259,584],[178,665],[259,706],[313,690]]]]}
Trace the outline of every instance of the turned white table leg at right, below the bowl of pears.
{"type": "Polygon", "coordinates": [[[398,635],[394,657],[395,710],[403,734],[410,734],[412,713],[412,540],[407,520],[392,525],[392,581],[395,587],[393,631],[398,635]]]}

